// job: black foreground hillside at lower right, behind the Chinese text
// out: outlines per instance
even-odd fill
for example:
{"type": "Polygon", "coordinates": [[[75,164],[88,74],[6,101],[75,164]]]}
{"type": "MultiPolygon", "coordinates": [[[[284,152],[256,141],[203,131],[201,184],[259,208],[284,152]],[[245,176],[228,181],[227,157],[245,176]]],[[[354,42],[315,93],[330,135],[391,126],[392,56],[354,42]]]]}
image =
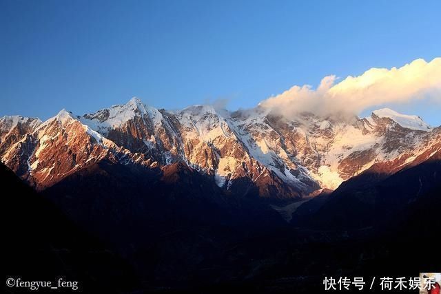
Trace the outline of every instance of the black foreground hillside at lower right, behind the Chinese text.
{"type": "MultiPolygon", "coordinates": [[[[325,293],[325,276],[376,277],[373,290],[384,293],[380,277],[418,277],[439,272],[441,257],[436,229],[440,198],[409,211],[399,229],[372,237],[362,232],[275,231],[236,243],[201,266],[198,279],[159,293],[325,293]],[[429,207],[427,207],[429,205],[429,207]],[[194,286],[197,285],[197,286],[194,286]]],[[[169,284],[170,285],[170,284],[169,284]]],[[[416,293],[416,291],[388,291],[416,293]]],[[[329,292],[328,292],[329,293],[329,292]]],[[[349,293],[358,293],[353,291],[349,293]]]]}

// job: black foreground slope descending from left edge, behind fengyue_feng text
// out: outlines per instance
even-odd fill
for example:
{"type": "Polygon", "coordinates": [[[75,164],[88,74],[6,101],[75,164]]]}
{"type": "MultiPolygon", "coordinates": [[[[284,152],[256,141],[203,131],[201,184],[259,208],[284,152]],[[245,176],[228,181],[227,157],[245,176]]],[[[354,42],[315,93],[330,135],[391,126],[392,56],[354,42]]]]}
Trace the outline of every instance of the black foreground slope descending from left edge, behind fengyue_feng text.
{"type": "MultiPolygon", "coordinates": [[[[97,238],[79,229],[50,201],[0,165],[2,276],[22,281],[78,281],[83,293],[121,293],[139,288],[132,266],[97,238]],[[112,281],[112,282],[110,282],[112,281]]],[[[3,293],[29,293],[9,288],[3,293]]],[[[68,291],[72,292],[70,288],[68,291]]],[[[59,290],[58,293],[63,292],[59,290]]],[[[48,289],[39,290],[48,293],[48,289]]]]}

